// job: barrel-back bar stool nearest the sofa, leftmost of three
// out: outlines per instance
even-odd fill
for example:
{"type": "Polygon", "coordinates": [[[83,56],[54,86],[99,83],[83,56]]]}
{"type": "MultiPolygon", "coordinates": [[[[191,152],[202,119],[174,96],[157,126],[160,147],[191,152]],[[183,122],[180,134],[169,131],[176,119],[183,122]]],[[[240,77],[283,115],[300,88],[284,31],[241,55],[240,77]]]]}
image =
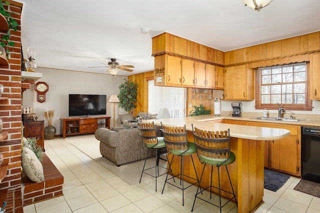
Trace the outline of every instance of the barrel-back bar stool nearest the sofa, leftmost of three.
{"type": "MultiPolygon", "coordinates": [[[[165,144],[163,141],[163,137],[156,136],[156,130],[154,128],[153,122],[152,123],[138,122],[138,129],[140,130],[140,136],[142,138],[143,146],[148,147],[150,149],[155,149],[155,166],[145,169],[145,163],[147,160],[147,158],[145,158],[139,183],[141,182],[143,174],[146,174],[146,175],[149,175],[149,176],[155,178],[155,192],[156,192],[156,179],[157,179],[157,177],[165,175],[171,171],[170,167],[169,167],[169,169],[167,169],[166,167],[159,166],[159,159],[162,159],[162,158],[160,158],[160,152],[161,152],[162,148],[165,148],[165,144]],[[159,168],[165,169],[166,172],[159,174],[159,168]],[[148,171],[151,169],[155,169],[154,175],[151,175],[148,173],[148,171]]],[[[164,152],[164,154],[167,159],[166,152],[164,152]]]]}

